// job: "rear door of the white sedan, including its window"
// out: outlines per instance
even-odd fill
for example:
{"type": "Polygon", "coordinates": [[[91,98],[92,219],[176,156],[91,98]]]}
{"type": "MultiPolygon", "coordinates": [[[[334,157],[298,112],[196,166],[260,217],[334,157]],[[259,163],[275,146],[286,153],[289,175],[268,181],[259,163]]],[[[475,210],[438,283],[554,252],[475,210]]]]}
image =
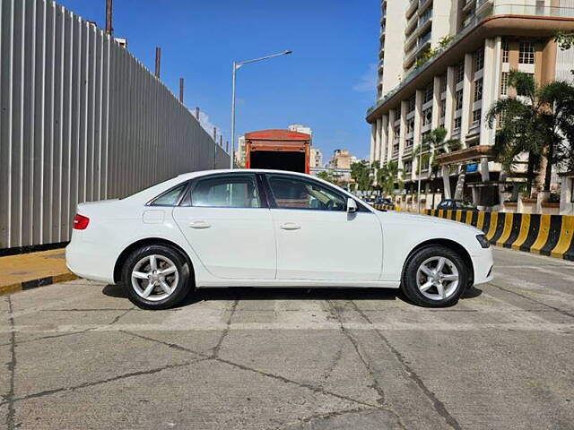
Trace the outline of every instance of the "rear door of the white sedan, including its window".
{"type": "Polygon", "coordinates": [[[213,276],[273,280],[275,239],[271,212],[253,174],[219,174],[193,181],[173,217],[213,276]]]}

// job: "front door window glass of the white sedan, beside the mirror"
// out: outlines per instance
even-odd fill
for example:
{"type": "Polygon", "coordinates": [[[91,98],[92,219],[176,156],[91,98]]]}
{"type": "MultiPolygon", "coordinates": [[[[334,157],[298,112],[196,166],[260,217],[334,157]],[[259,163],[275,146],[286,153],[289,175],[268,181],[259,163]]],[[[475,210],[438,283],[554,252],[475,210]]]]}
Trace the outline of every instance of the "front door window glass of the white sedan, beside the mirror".
{"type": "Polygon", "coordinates": [[[286,176],[267,176],[277,208],[345,211],[346,200],[324,185],[286,176]]]}

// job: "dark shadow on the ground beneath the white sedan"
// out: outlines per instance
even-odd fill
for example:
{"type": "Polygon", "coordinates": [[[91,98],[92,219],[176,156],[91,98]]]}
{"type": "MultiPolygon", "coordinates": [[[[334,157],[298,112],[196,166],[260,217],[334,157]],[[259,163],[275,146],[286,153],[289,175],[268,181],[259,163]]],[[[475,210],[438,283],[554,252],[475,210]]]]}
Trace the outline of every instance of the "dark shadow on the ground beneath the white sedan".
{"type": "MultiPolygon", "coordinates": [[[[102,289],[109,297],[127,298],[120,284],[102,289]]],[[[483,290],[469,288],[461,299],[479,297],[483,290]]],[[[200,288],[187,295],[178,305],[185,307],[209,300],[396,300],[411,303],[400,289],[395,288],[200,288]]]]}

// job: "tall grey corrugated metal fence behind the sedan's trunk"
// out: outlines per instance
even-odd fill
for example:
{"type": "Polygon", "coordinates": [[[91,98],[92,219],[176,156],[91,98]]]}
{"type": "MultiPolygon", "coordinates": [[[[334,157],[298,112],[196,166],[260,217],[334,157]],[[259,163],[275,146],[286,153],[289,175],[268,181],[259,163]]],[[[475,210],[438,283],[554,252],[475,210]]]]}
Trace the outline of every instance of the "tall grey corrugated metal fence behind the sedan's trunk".
{"type": "Polygon", "coordinates": [[[229,155],[117,42],[50,0],[0,0],[0,250],[69,240],[77,202],[229,155]]]}

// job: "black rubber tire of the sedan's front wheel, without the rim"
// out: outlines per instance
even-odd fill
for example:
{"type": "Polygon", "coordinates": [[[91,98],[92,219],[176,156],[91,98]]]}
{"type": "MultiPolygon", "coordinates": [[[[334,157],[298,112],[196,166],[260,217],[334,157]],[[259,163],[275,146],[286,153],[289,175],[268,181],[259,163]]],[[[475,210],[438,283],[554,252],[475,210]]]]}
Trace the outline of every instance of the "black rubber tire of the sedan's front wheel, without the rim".
{"type": "MultiPolygon", "coordinates": [[[[430,245],[415,251],[404,264],[401,289],[403,290],[404,295],[414,305],[423,307],[448,307],[457,304],[458,299],[465,292],[469,279],[469,269],[459,254],[446,246],[430,245]],[[433,299],[426,297],[418,286],[417,276],[420,276],[418,275],[419,268],[422,266],[423,262],[426,262],[433,257],[447,258],[454,264],[458,272],[457,287],[453,288],[452,292],[446,298],[433,299]]],[[[451,284],[448,283],[448,285],[451,284]]],[[[438,295],[438,289],[431,287],[427,294],[434,295],[435,291],[438,295]]]]}

